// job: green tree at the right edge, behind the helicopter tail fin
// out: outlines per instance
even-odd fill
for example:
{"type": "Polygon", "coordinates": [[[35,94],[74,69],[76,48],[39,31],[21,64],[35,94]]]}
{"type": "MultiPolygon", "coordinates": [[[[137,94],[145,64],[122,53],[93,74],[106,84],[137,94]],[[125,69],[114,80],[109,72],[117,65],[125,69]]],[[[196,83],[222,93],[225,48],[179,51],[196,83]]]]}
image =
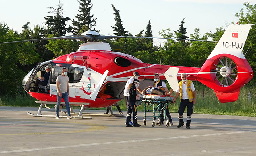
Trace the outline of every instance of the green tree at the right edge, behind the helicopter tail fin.
{"type": "MultiPolygon", "coordinates": [[[[241,9],[240,13],[236,13],[235,17],[239,18],[239,24],[255,24],[256,23],[256,4],[250,4],[249,2],[244,3],[247,13],[241,9]]],[[[247,40],[244,45],[245,58],[252,67],[253,71],[256,71],[256,25],[252,25],[247,40]]],[[[253,79],[251,83],[256,82],[256,72],[253,72],[253,79]]]]}

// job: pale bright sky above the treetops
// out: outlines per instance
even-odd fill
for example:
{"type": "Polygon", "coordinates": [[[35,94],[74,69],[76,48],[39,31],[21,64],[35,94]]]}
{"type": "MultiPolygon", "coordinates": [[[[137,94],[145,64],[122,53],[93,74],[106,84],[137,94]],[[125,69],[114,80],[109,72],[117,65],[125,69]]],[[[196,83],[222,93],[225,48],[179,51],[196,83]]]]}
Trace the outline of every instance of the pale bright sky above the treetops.
{"type": "MultiPolygon", "coordinates": [[[[77,20],[75,15],[79,14],[78,1],[60,1],[65,5],[63,17],[77,20]]],[[[256,3],[256,0],[91,0],[91,14],[97,18],[96,30],[100,30],[101,35],[114,35],[111,27],[116,23],[111,6],[113,4],[119,10],[125,31],[133,35],[146,30],[150,20],[152,35],[161,37],[159,31],[170,28],[173,33],[185,18],[186,35],[193,34],[194,29],[199,28],[202,36],[206,32],[215,32],[216,28],[226,29],[231,22],[236,23],[238,18],[235,13],[240,12],[244,7],[243,3],[247,1],[256,3]]],[[[59,0],[1,0],[0,22],[16,29],[18,33],[27,22],[30,22],[30,28],[38,24],[45,26],[44,17],[53,15],[48,13],[48,7],[57,8],[58,2],[59,0]]],[[[67,25],[72,25],[71,20],[67,25]]],[[[158,44],[161,41],[154,39],[154,42],[158,44]]]]}

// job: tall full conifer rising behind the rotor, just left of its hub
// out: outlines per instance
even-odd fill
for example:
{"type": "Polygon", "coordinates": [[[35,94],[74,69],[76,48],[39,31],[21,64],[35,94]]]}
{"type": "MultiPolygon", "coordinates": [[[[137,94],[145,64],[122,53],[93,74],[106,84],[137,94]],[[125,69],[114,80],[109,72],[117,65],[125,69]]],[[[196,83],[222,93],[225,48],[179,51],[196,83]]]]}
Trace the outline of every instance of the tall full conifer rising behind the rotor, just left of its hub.
{"type": "Polygon", "coordinates": [[[80,14],[75,15],[75,18],[77,18],[77,21],[74,19],[72,20],[72,26],[70,28],[72,29],[72,32],[77,35],[81,34],[81,30],[88,31],[88,30],[95,30],[96,26],[96,20],[97,18],[93,18],[94,15],[91,15],[91,9],[92,9],[92,4],[91,0],[77,0],[78,3],[80,4],[79,6],[79,12],[80,14]],[[93,28],[94,27],[94,28],[93,28]],[[85,29],[86,28],[86,29],[85,29]],[[92,29],[93,28],[93,29],[92,29]]]}

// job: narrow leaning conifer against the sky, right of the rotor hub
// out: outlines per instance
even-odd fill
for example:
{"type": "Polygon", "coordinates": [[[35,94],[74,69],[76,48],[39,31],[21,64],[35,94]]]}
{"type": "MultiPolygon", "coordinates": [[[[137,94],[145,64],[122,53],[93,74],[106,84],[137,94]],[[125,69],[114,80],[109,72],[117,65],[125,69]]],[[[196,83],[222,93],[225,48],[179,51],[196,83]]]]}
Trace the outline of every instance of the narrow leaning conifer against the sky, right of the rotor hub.
{"type": "Polygon", "coordinates": [[[113,7],[113,10],[114,10],[114,15],[115,15],[115,21],[116,21],[116,24],[115,26],[111,26],[113,28],[113,30],[116,32],[114,33],[115,35],[117,36],[127,36],[127,33],[128,31],[125,31],[123,25],[122,25],[122,20],[121,20],[121,17],[119,15],[119,10],[116,10],[116,8],[114,7],[113,4],[111,4],[112,7],[113,7]]]}

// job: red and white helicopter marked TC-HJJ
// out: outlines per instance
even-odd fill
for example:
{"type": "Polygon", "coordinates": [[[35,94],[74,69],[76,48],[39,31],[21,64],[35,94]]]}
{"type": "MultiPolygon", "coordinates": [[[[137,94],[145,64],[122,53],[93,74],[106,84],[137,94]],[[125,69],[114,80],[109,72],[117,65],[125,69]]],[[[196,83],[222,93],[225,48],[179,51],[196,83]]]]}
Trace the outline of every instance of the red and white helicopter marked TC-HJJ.
{"type": "MultiPolygon", "coordinates": [[[[83,118],[82,111],[85,108],[107,107],[120,101],[123,98],[125,83],[134,71],[140,74],[140,88],[152,84],[152,81],[144,79],[153,79],[154,73],[159,73],[161,79],[166,79],[170,86],[176,89],[177,80],[180,80],[180,73],[185,72],[187,79],[200,81],[212,88],[220,102],[236,101],[240,88],[253,77],[252,68],[242,52],[250,28],[251,24],[228,26],[201,68],[143,63],[134,56],[113,52],[108,43],[83,43],[76,52],[39,63],[25,76],[22,81],[24,89],[30,96],[40,100],[41,103],[37,114],[29,112],[28,114],[47,116],[41,114],[41,108],[44,104],[56,103],[56,78],[61,74],[63,67],[68,69],[70,105],[81,106],[81,111],[77,116],[81,118],[83,118]],[[35,92],[33,91],[33,85],[36,77],[44,73],[44,67],[46,66],[51,68],[48,85],[43,87],[45,92],[35,92]],[[112,87],[114,98],[106,100],[97,98],[100,89],[106,84],[112,87]]],[[[97,41],[107,38],[121,38],[121,36],[103,36],[95,31],[87,31],[81,35],[48,39],[88,39],[89,41],[97,41]]]]}

